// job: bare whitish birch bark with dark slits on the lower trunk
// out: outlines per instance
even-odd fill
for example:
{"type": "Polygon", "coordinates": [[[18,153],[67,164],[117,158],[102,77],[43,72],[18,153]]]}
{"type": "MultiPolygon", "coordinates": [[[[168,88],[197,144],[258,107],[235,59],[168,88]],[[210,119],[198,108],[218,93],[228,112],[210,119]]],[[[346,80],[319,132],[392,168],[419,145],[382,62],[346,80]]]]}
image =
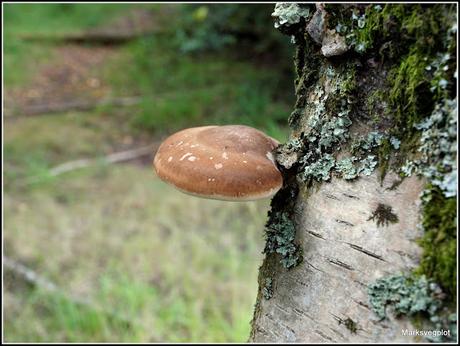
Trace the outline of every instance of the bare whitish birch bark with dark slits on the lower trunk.
{"type": "Polygon", "coordinates": [[[294,270],[279,266],[270,274],[276,291],[270,300],[261,297],[251,342],[416,342],[401,333],[416,329],[407,318],[389,316],[376,323],[367,292],[370,283],[410,272],[420,259],[414,239],[421,236],[424,181],[406,178],[389,190],[397,179],[390,172],[381,184],[374,172],[353,182],[333,178],[310,191],[301,186],[295,224],[304,261],[294,270]],[[391,205],[399,222],[378,226],[370,220],[379,203],[391,205]],[[356,333],[334,316],[354,321],[356,333]]]}

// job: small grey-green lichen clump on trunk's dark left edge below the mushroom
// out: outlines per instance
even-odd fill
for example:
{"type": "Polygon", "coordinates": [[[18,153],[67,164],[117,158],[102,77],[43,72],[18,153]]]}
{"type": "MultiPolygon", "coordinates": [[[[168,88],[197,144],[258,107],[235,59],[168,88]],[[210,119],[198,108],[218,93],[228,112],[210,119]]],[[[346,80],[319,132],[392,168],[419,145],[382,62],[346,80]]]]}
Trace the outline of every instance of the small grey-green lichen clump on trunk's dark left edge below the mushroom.
{"type": "Polygon", "coordinates": [[[264,253],[278,253],[281,264],[293,268],[302,261],[300,247],[294,243],[295,225],[285,212],[276,212],[265,228],[266,243],[264,253]]]}

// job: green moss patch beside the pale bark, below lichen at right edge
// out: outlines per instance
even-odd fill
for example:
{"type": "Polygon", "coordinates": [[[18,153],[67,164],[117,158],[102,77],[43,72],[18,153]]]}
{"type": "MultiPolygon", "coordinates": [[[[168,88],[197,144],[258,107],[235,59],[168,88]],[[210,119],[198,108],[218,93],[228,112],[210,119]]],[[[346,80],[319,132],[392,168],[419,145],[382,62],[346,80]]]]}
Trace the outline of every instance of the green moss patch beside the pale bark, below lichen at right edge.
{"type": "Polygon", "coordinates": [[[423,204],[423,255],[417,274],[438,282],[456,301],[457,199],[446,198],[438,187],[428,186],[423,204]]]}

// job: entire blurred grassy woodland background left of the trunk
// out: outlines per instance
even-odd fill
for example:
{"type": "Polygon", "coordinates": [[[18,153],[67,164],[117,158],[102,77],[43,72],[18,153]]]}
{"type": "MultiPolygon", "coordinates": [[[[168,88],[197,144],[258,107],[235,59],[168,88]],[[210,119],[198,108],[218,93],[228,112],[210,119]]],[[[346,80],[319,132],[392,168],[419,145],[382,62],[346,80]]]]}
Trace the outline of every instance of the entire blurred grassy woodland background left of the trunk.
{"type": "Polygon", "coordinates": [[[4,340],[244,342],[269,201],[177,192],[184,127],[283,142],[292,47],[273,4],[3,4],[4,340]]]}

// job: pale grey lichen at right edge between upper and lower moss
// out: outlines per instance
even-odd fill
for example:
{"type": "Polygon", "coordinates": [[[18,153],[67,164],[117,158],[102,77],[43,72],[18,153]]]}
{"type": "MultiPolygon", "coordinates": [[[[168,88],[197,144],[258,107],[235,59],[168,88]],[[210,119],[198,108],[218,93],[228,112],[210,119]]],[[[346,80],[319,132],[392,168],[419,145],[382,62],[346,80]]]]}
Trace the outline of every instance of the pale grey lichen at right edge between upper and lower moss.
{"type": "Polygon", "coordinates": [[[437,104],[431,116],[414,127],[421,131],[420,157],[407,160],[401,172],[423,175],[446,197],[457,195],[457,99],[437,104]]]}

